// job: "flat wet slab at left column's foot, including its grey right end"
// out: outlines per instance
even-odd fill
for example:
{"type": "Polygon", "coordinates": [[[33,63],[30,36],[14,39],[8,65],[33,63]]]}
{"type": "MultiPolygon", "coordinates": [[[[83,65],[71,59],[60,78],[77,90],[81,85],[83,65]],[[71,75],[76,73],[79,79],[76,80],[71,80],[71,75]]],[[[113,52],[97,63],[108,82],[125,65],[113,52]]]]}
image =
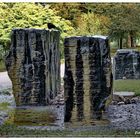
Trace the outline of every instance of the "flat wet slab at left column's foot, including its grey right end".
{"type": "Polygon", "coordinates": [[[14,124],[18,126],[62,126],[63,106],[23,106],[15,108],[14,124]]]}

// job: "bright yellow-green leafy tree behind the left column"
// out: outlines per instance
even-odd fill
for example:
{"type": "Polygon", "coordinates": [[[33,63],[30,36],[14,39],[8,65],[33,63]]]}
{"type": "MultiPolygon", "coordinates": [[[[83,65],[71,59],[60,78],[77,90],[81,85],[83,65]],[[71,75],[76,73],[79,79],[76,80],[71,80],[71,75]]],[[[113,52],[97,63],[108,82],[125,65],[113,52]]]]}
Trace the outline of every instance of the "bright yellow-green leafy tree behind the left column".
{"type": "MultiPolygon", "coordinates": [[[[73,30],[71,22],[56,15],[49,5],[44,7],[34,3],[0,3],[0,45],[4,50],[9,49],[10,32],[13,28],[47,29],[47,23],[53,23],[59,27],[61,42],[73,30]]],[[[62,47],[61,43],[61,52],[63,52],[62,47]]]]}

